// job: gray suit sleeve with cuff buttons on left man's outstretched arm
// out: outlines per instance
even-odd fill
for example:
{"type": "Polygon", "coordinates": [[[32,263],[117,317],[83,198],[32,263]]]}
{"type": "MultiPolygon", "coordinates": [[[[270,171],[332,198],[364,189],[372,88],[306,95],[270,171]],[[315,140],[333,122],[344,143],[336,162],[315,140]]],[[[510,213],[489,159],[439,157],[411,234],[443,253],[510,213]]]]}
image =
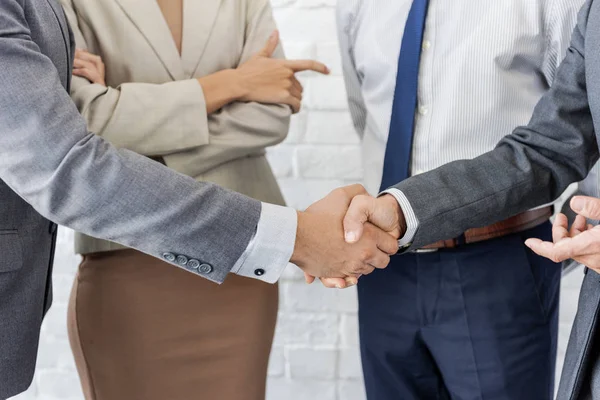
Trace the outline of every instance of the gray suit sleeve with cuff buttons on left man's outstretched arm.
{"type": "Polygon", "coordinates": [[[255,233],[260,202],[89,133],[19,0],[0,3],[0,54],[0,179],[50,220],[156,257],[198,259],[212,271],[197,274],[223,281],[255,233]]]}

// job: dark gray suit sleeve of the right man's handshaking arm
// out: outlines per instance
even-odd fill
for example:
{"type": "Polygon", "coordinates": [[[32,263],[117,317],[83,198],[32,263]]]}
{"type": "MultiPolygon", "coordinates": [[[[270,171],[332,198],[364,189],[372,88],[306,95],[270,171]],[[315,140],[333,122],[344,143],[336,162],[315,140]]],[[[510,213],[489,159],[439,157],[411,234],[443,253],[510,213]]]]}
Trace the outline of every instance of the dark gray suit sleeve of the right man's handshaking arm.
{"type": "Polygon", "coordinates": [[[580,11],[567,56],[527,126],[489,153],[395,186],[419,220],[412,248],[551,202],[598,160],[584,59],[590,5],[580,11]]]}

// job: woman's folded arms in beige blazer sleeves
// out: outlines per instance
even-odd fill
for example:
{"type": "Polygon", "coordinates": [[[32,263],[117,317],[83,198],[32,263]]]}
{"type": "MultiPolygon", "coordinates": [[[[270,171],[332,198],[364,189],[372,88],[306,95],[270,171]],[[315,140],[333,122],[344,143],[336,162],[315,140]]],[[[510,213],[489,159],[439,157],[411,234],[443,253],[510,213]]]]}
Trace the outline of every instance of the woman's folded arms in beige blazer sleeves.
{"type": "MultiPolygon", "coordinates": [[[[79,29],[79,22],[85,21],[77,18],[70,0],[63,3],[78,45],[87,48],[79,29]]],[[[168,156],[215,145],[207,153],[219,156],[224,152],[221,162],[228,161],[232,150],[228,145],[235,146],[235,158],[264,151],[283,141],[289,127],[290,105],[299,109],[302,87],[293,74],[282,76],[291,69],[281,60],[284,55],[278,37],[274,45],[270,40],[265,46],[275,30],[268,2],[249,4],[246,42],[236,69],[199,79],[164,84],[132,82],[117,88],[74,78],[72,96],[90,128],[117,147],[144,155],[168,156]],[[262,54],[265,51],[268,54],[262,54]],[[262,76],[248,76],[257,69],[262,76]],[[251,85],[253,80],[265,76],[269,77],[269,85],[251,85]],[[265,94],[265,90],[269,92],[265,94]]],[[[318,63],[308,67],[324,68],[318,63]]],[[[194,157],[196,164],[198,159],[194,157]]],[[[170,161],[175,167],[179,164],[177,157],[167,158],[167,165],[170,161]]],[[[210,162],[197,165],[199,171],[213,166],[210,162]]]]}

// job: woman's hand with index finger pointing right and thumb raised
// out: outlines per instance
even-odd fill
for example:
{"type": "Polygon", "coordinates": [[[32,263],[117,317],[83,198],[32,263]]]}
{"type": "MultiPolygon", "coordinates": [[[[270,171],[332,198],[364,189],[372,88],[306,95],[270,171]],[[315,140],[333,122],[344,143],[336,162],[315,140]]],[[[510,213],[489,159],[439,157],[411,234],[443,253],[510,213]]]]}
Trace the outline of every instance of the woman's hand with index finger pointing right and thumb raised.
{"type": "Polygon", "coordinates": [[[300,111],[303,89],[295,73],[315,71],[329,74],[329,69],[313,60],[271,58],[278,45],[279,32],[274,31],[260,52],[235,69],[241,93],[238,100],[288,104],[297,113],[300,111]]]}

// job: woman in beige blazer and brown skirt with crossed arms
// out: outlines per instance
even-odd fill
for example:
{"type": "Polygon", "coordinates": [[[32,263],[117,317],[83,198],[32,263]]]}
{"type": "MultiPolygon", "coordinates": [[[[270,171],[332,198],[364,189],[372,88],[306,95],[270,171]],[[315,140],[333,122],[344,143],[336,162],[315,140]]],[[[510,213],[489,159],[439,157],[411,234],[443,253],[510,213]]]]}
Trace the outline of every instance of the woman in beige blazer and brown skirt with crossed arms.
{"type": "MultiPolygon", "coordinates": [[[[300,107],[294,72],[328,71],[281,59],[268,0],[62,1],[83,49],[72,97],[91,131],[283,204],[265,148],[300,107]]],[[[88,400],[264,399],[276,286],[218,286],[81,234],[76,251],[69,336],[88,400]]]]}

